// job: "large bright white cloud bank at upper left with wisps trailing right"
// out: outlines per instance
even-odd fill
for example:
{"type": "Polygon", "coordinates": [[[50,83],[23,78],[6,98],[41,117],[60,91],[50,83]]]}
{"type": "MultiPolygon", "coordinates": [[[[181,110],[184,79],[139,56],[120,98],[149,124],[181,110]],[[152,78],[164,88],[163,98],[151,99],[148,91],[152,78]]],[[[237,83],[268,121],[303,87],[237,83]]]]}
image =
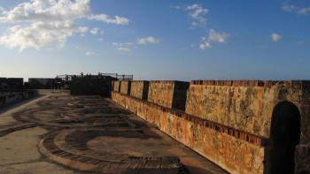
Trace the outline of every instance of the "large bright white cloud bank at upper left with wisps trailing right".
{"type": "MultiPolygon", "coordinates": [[[[29,0],[9,11],[1,13],[0,10],[0,24],[11,25],[0,35],[0,44],[19,51],[41,49],[50,44],[63,47],[68,37],[74,34],[83,36],[89,31],[87,26],[76,25],[77,19],[88,19],[89,12],[90,0],[29,0]]],[[[94,18],[96,16],[92,15],[94,18]]],[[[128,19],[124,17],[111,19],[107,15],[101,16],[107,23],[128,24],[128,19]]],[[[98,32],[94,28],[91,30],[92,34],[98,32]]]]}

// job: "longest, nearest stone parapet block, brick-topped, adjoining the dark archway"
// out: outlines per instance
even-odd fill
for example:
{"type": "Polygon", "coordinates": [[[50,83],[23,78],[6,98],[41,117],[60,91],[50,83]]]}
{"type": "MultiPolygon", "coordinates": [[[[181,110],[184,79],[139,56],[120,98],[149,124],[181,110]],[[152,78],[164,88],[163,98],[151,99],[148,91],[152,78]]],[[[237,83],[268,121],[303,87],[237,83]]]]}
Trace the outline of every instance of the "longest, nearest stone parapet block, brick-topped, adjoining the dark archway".
{"type": "Polygon", "coordinates": [[[192,81],[186,113],[269,137],[275,105],[300,108],[301,81],[192,81]]]}

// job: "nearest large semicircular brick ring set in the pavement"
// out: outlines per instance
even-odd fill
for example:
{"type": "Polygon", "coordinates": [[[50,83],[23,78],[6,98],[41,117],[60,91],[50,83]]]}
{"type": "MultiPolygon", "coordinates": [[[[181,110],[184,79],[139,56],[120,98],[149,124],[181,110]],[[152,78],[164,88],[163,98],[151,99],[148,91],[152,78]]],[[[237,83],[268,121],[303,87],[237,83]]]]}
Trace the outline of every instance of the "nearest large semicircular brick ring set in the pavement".
{"type": "MultiPolygon", "coordinates": [[[[132,155],[133,147],[124,148],[124,145],[114,144],[136,139],[136,143],[139,143],[137,147],[140,147],[141,143],[147,146],[151,143],[150,138],[151,135],[139,131],[66,129],[50,133],[41,141],[39,148],[42,154],[50,159],[78,170],[106,173],[114,173],[115,170],[118,170],[117,173],[185,173],[177,156],[165,156],[160,149],[154,150],[157,155],[132,155]],[[98,138],[105,144],[94,148],[98,138]]],[[[143,154],[143,150],[134,151],[143,154]]]]}

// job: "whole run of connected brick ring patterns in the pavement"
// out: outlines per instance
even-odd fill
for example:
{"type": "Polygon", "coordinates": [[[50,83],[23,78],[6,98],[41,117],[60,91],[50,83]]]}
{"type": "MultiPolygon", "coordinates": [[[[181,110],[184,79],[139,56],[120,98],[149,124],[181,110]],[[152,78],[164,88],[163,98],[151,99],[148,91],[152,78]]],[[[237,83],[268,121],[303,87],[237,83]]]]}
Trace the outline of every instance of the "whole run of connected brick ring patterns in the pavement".
{"type": "Polygon", "coordinates": [[[50,96],[13,117],[50,128],[39,144],[50,160],[100,173],[188,173],[182,150],[128,110],[98,96],[50,96]],[[176,149],[176,148],[175,148],[176,149]]]}

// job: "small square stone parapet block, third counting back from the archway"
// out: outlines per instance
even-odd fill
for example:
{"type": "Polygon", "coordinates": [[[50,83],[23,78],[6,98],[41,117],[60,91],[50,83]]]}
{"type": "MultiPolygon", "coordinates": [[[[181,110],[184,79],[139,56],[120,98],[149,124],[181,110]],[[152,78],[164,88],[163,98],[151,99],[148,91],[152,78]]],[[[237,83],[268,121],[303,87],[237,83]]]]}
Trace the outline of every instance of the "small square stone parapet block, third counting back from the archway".
{"type": "Polygon", "coordinates": [[[131,81],[130,95],[138,99],[147,100],[149,81],[131,81]]]}

